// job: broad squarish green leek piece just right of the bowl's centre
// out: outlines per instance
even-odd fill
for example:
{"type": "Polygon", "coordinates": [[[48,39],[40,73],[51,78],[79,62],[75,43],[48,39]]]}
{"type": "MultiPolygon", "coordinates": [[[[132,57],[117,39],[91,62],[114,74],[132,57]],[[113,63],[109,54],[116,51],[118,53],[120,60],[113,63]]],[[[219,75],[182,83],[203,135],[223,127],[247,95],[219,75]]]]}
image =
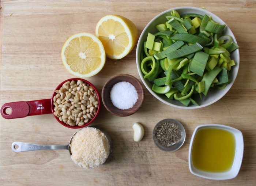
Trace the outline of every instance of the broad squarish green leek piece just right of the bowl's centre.
{"type": "Polygon", "coordinates": [[[209,54],[197,52],[190,64],[189,71],[195,72],[199,76],[203,76],[209,54]]]}

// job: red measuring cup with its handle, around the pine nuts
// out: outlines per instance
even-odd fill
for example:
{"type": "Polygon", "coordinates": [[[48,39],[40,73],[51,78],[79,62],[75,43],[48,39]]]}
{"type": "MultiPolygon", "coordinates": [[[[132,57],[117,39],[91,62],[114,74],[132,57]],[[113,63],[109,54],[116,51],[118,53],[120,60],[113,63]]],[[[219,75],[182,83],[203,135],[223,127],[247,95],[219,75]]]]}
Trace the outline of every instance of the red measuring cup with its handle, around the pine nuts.
{"type": "Polygon", "coordinates": [[[93,84],[91,84],[89,81],[84,80],[84,79],[80,79],[80,78],[71,78],[71,79],[67,79],[65,81],[63,81],[62,83],[60,83],[56,89],[53,91],[52,94],[52,98],[50,99],[40,99],[40,100],[34,100],[34,101],[19,101],[19,102],[11,102],[11,103],[5,103],[2,107],[1,107],[1,115],[5,118],[5,119],[14,119],[14,118],[24,118],[26,116],[31,116],[31,115],[40,115],[40,114],[50,114],[52,113],[55,117],[55,119],[57,119],[57,121],[63,125],[66,126],[68,128],[72,128],[72,129],[78,129],[78,128],[82,128],[85,126],[90,125],[95,118],[98,116],[99,114],[99,109],[101,106],[101,102],[100,102],[100,96],[99,96],[99,92],[98,90],[93,86],[93,84]],[[72,81],[72,80],[81,80],[86,84],[89,84],[90,86],[92,86],[98,96],[98,108],[96,111],[95,116],[93,117],[93,119],[91,119],[87,124],[82,125],[82,126],[70,126],[68,124],[65,124],[64,122],[60,121],[60,119],[58,117],[56,117],[54,115],[54,105],[53,105],[53,97],[57,94],[55,91],[59,90],[60,87],[67,81],[72,81]],[[11,113],[7,113],[6,110],[7,109],[11,109],[11,113]]]}

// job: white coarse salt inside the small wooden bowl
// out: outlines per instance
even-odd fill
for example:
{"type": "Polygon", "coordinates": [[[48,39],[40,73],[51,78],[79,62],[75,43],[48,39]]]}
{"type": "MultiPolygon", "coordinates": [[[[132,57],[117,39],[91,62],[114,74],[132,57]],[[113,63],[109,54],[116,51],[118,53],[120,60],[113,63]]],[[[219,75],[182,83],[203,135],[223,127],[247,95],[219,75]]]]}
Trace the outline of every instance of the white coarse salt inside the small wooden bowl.
{"type": "Polygon", "coordinates": [[[138,92],[131,83],[122,81],[114,84],[110,91],[110,99],[118,109],[130,109],[138,100],[138,92]]]}

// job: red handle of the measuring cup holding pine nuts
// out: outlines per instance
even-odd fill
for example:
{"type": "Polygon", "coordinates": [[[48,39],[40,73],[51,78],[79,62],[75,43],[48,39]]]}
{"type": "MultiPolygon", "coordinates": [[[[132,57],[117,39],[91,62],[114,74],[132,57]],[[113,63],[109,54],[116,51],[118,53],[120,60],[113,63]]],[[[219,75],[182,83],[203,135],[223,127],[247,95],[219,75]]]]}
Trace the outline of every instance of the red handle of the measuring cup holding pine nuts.
{"type": "Polygon", "coordinates": [[[1,107],[1,115],[5,119],[24,118],[29,115],[50,114],[51,99],[41,99],[34,101],[19,101],[5,103],[1,107]],[[11,109],[11,113],[7,113],[6,110],[11,109]]]}

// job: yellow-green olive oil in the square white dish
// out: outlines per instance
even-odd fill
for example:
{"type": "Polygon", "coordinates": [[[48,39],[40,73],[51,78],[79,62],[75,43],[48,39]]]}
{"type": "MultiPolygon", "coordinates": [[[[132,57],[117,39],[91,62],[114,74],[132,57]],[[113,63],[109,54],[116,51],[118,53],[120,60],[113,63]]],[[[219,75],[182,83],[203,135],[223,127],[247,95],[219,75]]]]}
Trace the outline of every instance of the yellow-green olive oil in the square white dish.
{"type": "Polygon", "coordinates": [[[227,130],[206,128],[197,132],[192,149],[193,165],[202,171],[224,172],[232,167],[235,138],[227,130]]]}

